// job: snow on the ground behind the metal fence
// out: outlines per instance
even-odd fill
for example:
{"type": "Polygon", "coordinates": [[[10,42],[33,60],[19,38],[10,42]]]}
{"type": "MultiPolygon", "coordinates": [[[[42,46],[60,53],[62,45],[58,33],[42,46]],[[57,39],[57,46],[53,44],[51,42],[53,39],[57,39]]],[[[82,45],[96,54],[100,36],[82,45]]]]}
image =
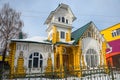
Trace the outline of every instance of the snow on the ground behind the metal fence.
{"type": "MultiPolygon", "coordinates": [[[[4,79],[8,80],[8,79],[4,79]]],[[[112,80],[111,75],[107,74],[96,74],[92,76],[86,76],[86,77],[67,77],[63,79],[49,79],[49,78],[19,78],[19,79],[12,79],[12,80],[112,80]]],[[[120,80],[120,74],[114,75],[114,80],[120,80]]]]}

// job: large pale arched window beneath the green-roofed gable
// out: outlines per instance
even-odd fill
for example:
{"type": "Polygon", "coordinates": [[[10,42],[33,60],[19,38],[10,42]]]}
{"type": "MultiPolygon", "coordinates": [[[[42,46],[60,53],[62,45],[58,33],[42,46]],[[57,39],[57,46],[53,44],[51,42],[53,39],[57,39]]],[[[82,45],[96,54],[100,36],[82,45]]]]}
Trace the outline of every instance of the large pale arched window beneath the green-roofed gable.
{"type": "Polygon", "coordinates": [[[86,62],[88,67],[97,67],[98,55],[94,49],[88,49],[86,53],[86,62]]]}

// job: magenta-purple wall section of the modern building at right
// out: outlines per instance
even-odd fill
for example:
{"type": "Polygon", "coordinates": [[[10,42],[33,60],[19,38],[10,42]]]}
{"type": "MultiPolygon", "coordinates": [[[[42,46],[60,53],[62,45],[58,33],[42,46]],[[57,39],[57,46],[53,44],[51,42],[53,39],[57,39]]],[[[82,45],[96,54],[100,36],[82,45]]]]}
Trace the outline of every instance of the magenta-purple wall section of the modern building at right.
{"type": "Polygon", "coordinates": [[[120,39],[110,41],[108,44],[112,47],[112,53],[113,52],[120,52],[120,39]]]}

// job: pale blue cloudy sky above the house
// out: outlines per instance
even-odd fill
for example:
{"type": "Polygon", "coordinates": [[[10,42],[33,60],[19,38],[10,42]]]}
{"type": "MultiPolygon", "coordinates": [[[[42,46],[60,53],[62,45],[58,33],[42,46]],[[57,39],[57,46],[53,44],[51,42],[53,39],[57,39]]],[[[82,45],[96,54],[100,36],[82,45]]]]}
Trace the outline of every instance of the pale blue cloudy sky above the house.
{"type": "Polygon", "coordinates": [[[0,9],[5,3],[21,13],[23,31],[28,37],[47,37],[45,20],[60,3],[69,5],[77,19],[76,30],[93,21],[99,30],[120,23],[120,0],[0,0],[0,9]]]}

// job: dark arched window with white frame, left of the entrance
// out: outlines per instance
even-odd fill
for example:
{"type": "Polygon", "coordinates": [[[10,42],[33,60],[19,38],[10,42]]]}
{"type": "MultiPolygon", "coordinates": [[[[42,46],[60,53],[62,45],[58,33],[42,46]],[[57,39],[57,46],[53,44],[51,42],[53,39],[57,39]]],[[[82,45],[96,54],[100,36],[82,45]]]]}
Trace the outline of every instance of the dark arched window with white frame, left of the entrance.
{"type": "Polygon", "coordinates": [[[29,56],[29,68],[41,68],[43,65],[43,57],[38,52],[34,52],[29,56]]]}

